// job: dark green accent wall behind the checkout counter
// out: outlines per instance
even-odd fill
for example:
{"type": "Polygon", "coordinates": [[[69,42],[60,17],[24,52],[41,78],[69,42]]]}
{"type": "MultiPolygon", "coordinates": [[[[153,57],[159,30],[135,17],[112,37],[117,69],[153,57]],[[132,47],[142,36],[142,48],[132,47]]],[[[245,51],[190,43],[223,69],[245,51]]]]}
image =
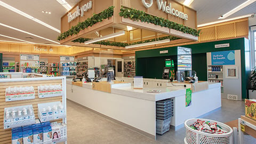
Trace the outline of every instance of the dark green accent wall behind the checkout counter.
{"type": "MultiPolygon", "coordinates": [[[[241,50],[242,98],[243,99],[247,98],[247,89],[248,89],[249,75],[250,75],[250,47],[249,47],[248,39],[235,38],[235,39],[227,39],[223,41],[182,45],[182,47],[188,47],[192,49],[192,69],[197,72],[199,81],[207,81],[207,62],[206,62],[207,52],[241,50]],[[229,43],[229,47],[223,47],[218,49],[215,49],[214,47],[215,44],[225,44],[225,43],[229,43]]],[[[164,59],[170,56],[174,56],[174,57],[177,56],[177,46],[135,52],[136,75],[143,76],[145,78],[162,78],[162,76],[159,77],[159,74],[161,73],[162,75],[164,61],[161,63],[159,59],[164,59]],[[165,54],[159,53],[159,51],[164,51],[164,50],[168,50],[168,53],[165,53],[165,54]],[[154,63],[154,61],[158,61],[158,62],[154,63]],[[143,66],[143,65],[146,65],[146,66],[143,66]]]]}

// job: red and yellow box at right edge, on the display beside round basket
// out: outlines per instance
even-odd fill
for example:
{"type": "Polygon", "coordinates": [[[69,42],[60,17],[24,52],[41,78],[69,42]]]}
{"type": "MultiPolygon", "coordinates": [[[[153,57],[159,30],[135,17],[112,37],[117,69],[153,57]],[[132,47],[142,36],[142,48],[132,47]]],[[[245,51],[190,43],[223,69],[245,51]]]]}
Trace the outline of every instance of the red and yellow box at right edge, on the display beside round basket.
{"type": "Polygon", "coordinates": [[[245,99],[245,116],[256,120],[256,99],[245,99]]]}

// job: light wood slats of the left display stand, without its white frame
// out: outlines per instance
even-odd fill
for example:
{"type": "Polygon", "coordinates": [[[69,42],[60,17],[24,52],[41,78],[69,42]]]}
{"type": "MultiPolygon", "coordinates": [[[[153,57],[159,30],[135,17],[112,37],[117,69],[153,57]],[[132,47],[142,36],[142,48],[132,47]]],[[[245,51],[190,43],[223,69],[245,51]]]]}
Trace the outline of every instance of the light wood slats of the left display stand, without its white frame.
{"type": "MultiPolygon", "coordinates": [[[[38,103],[46,103],[46,102],[54,102],[61,101],[62,97],[52,97],[52,98],[38,98],[37,95],[37,86],[38,85],[53,85],[53,84],[62,84],[60,80],[49,80],[49,81],[27,81],[27,82],[0,82],[0,143],[11,143],[11,129],[4,130],[4,108],[6,107],[15,107],[15,106],[24,106],[24,105],[33,105],[34,113],[36,118],[37,116],[37,104],[38,103]],[[7,87],[14,86],[34,86],[35,89],[35,99],[31,100],[20,100],[20,101],[9,101],[5,102],[5,89],[7,87]]],[[[61,119],[57,120],[58,122],[62,122],[61,119]]]]}

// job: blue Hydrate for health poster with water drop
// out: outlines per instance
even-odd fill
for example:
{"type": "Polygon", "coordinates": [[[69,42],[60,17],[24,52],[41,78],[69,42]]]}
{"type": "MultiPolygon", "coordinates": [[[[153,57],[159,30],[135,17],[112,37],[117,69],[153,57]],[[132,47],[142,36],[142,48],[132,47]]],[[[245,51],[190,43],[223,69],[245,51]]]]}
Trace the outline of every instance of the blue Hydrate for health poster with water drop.
{"type": "Polygon", "coordinates": [[[212,65],[235,65],[235,51],[212,52],[212,65]]]}

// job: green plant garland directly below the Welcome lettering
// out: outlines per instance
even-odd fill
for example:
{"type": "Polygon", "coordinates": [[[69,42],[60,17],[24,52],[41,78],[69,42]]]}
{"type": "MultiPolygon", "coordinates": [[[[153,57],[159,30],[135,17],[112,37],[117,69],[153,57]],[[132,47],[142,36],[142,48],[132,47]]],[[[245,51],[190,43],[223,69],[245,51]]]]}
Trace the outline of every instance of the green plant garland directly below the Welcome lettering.
{"type": "Polygon", "coordinates": [[[179,30],[185,34],[190,34],[193,36],[199,36],[201,31],[201,30],[196,30],[193,28],[180,25],[179,23],[169,21],[161,17],[156,17],[154,15],[147,14],[144,11],[130,9],[123,6],[120,9],[119,15],[120,17],[124,17],[126,19],[130,18],[133,21],[140,20],[141,22],[153,23],[154,25],[157,25],[157,26],[179,30]]]}

